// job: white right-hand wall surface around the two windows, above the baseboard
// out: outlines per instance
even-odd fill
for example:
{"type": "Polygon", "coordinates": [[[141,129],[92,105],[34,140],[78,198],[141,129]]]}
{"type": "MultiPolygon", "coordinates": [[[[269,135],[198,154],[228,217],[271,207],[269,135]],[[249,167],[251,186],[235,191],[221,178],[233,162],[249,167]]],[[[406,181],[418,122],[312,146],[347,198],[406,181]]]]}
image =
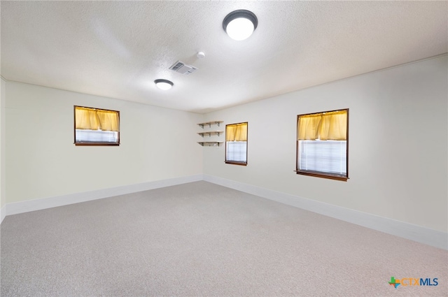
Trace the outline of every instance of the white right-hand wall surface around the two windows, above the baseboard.
{"type": "Polygon", "coordinates": [[[248,166],[209,147],[204,174],[447,232],[447,68],[445,55],[209,113],[248,122],[248,166]],[[350,179],[296,175],[297,115],[339,108],[350,179]]]}

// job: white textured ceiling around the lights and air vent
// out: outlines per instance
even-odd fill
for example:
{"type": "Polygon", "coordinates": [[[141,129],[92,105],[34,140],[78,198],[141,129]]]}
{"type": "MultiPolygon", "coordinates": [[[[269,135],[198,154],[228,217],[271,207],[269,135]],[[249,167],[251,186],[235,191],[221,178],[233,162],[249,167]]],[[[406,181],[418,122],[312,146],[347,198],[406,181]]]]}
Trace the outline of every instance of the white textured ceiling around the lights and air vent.
{"type": "Polygon", "coordinates": [[[447,1],[1,1],[1,75],[207,113],[444,54],[447,27],[447,1]],[[222,28],[236,9],[246,41],[222,28]]]}

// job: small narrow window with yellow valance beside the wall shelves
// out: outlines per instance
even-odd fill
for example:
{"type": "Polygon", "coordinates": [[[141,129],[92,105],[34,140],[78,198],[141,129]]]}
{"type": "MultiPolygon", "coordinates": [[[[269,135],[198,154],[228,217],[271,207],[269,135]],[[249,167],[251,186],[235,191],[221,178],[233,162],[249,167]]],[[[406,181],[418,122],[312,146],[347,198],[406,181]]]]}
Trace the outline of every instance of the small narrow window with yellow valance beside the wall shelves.
{"type": "Polygon", "coordinates": [[[247,122],[225,125],[225,163],[247,165],[247,122]]]}

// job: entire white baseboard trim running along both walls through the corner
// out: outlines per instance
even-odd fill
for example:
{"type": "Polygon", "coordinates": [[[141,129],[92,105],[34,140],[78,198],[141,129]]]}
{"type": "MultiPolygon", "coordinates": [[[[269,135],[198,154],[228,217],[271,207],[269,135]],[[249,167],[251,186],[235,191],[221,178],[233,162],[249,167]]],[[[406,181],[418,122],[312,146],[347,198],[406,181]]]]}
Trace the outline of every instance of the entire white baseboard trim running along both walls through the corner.
{"type": "Polygon", "coordinates": [[[297,208],[316,212],[321,215],[340,219],[345,222],[357,224],[394,236],[400,236],[402,238],[414,240],[426,245],[431,245],[433,247],[448,250],[448,233],[444,233],[442,231],[436,231],[423,226],[400,222],[395,219],[388,219],[386,217],[379,217],[377,215],[368,214],[366,212],[351,210],[349,208],[343,208],[341,206],[323,203],[300,196],[294,196],[279,191],[256,187],[251,184],[236,182],[235,180],[227,180],[225,178],[219,178],[213,175],[202,174],[190,175],[181,178],[171,178],[168,180],[157,180],[154,182],[144,182],[141,184],[130,184],[122,187],[87,191],[83,193],[69,194],[64,196],[34,199],[16,203],[7,203],[5,206],[3,206],[3,208],[0,209],[0,224],[1,222],[3,222],[3,219],[6,217],[6,215],[16,215],[22,212],[43,210],[45,208],[55,208],[62,205],[92,201],[118,195],[136,193],[139,191],[158,189],[162,187],[170,187],[175,186],[176,184],[185,184],[188,182],[197,182],[200,180],[219,184],[230,189],[244,191],[248,194],[253,194],[287,205],[292,205],[297,208]]]}

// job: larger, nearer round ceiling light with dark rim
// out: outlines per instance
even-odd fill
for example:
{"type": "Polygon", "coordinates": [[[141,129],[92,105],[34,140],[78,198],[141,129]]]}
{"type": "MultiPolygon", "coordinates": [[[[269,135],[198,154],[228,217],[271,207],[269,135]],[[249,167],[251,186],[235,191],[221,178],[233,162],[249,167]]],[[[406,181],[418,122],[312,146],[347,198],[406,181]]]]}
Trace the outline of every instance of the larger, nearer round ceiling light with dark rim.
{"type": "Polygon", "coordinates": [[[249,10],[235,10],[224,17],[223,29],[235,41],[244,41],[257,29],[257,16],[249,10]]]}

